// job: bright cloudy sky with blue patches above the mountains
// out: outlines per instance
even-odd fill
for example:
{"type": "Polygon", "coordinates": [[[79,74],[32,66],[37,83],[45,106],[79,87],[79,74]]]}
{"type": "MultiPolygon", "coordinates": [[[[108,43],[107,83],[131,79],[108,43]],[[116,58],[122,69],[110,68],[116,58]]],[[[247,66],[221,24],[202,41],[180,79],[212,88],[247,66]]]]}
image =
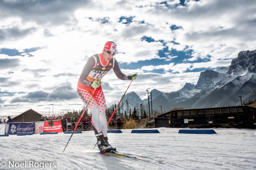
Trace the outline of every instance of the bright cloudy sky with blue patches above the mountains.
{"type": "MultiPolygon", "coordinates": [[[[77,80],[106,41],[116,42],[122,72],[138,73],[128,93],[141,99],[146,89],[196,84],[200,72],[256,49],[254,0],[2,0],[0,11],[0,116],[81,109],[77,80]]],[[[110,71],[107,104],[128,84],[110,71]]]]}

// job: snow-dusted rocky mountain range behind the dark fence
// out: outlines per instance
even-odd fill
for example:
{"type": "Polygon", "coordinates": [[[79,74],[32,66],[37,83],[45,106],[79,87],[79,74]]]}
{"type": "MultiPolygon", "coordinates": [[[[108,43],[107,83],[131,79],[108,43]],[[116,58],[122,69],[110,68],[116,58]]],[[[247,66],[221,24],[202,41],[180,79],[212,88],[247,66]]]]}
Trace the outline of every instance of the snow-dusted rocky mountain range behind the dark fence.
{"type": "MultiPolygon", "coordinates": [[[[228,67],[218,70],[205,70],[200,73],[196,85],[186,83],[178,91],[164,93],[157,89],[151,91],[152,108],[161,112],[174,108],[195,109],[227,106],[240,106],[243,102],[256,99],[256,50],[241,51],[228,67]],[[241,97],[241,98],[239,98],[241,97]]],[[[125,95],[131,110],[143,108],[148,112],[148,99],[141,100],[135,93],[125,95]]],[[[151,96],[149,96],[149,101],[151,96]]],[[[150,101],[151,112],[151,101],[150,101]]],[[[140,109],[139,109],[140,110],[140,109]]]]}

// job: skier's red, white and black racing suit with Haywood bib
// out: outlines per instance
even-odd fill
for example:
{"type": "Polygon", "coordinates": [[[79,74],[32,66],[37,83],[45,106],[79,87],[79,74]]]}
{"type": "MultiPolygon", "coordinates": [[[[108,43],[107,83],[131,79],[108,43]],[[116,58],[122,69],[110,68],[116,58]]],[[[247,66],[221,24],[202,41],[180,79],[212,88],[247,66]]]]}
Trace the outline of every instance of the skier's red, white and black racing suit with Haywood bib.
{"type": "MultiPolygon", "coordinates": [[[[92,82],[94,80],[101,80],[111,69],[113,69],[119,79],[131,80],[130,76],[126,76],[121,72],[115,58],[106,62],[102,54],[95,54],[88,59],[77,83],[77,93],[85,105],[94,90],[94,88],[91,87],[92,82]]],[[[97,133],[102,132],[103,136],[107,137],[106,100],[101,86],[96,89],[88,104],[88,108],[92,113],[92,125],[97,133]]]]}

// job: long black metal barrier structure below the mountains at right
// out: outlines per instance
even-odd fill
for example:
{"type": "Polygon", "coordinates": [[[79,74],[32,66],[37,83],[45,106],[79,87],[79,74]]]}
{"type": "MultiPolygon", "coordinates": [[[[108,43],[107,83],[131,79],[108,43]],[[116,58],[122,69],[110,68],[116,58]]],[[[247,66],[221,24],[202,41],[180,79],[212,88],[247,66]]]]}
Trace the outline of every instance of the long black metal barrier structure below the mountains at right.
{"type": "Polygon", "coordinates": [[[234,106],[222,108],[173,110],[155,118],[155,127],[170,128],[256,128],[256,108],[234,106]]]}

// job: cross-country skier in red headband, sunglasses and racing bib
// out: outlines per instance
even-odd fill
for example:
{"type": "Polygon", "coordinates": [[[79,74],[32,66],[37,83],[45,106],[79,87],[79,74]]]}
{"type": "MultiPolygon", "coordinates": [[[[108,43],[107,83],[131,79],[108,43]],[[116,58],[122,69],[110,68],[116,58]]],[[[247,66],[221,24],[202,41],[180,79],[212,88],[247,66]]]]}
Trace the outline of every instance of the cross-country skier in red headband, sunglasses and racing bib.
{"type": "Polygon", "coordinates": [[[88,108],[92,114],[92,125],[97,137],[98,148],[101,152],[112,152],[107,137],[106,100],[101,88],[100,80],[113,69],[117,78],[121,80],[135,80],[137,74],[126,76],[121,72],[118,62],[113,56],[116,53],[116,43],[108,41],[100,54],[94,54],[86,62],[79,81],[77,83],[77,93],[84,104],[87,104],[94,89],[96,89],[88,108]]]}

